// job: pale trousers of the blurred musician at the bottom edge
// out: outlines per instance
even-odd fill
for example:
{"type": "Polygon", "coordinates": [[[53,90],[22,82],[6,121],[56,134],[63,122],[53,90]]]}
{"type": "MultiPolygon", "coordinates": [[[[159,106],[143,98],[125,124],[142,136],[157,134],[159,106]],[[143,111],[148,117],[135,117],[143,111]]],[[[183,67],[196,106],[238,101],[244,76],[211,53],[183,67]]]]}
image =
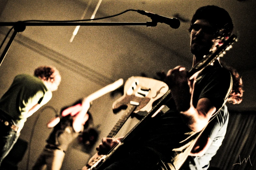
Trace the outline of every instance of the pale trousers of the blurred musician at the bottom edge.
{"type": "Polygon", "coordinates": [[[64,156],[62,150],[44,148],[32,170],[42,170],[45,166],[47,170],[60,170],[64,156]]]}

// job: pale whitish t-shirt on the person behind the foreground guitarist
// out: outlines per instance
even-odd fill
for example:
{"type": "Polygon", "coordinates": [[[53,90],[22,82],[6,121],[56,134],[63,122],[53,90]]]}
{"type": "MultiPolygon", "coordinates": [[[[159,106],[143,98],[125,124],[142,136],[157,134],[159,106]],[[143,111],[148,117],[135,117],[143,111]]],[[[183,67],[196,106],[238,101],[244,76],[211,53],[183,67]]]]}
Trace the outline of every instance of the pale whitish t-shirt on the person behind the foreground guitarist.
{"type": "Polygon", "coordinates": [[[209,167],[212,157],[222,144],[228,126],[229,113],[228,108],[224,105],[217,116],[209,122],[203,131],[204,136],[212,139],[212,144],[206,150],[203,156],[188,156],[182,166],[182,170],[206,170],[209,167]]]}

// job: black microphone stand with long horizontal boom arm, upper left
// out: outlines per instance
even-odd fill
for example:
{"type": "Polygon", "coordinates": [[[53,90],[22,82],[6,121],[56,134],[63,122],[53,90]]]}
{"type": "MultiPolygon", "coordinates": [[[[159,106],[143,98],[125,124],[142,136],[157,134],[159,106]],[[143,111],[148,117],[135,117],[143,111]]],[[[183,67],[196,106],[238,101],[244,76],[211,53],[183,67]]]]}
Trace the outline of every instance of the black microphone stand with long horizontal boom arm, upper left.
{"type": "Polygon", "coordinates": [[[156,22],[146,22],[146,23],[109,23],[109,22],[0,22],[0,26],[14,26],[14,31],[0,56],[0,66],[12,44],[12,41],[16,37],[18,32],[23,32],[26,26],[156,26],[156,22]]]}

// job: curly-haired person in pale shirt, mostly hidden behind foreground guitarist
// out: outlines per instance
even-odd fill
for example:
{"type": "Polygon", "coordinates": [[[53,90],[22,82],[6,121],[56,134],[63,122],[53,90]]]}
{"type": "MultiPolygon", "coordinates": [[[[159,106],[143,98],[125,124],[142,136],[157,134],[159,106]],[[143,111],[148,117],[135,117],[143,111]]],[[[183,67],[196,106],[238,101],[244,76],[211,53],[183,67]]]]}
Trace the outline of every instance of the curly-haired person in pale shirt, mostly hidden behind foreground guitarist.
{"type": "MultiPolygon", "coordinates": [[[[239,104],[243,97],[241,76],[232,67],[225,66],[231,72],[233,85],[227,102],[239,104]]],[[[218,115],[206,126],[180,170],[206,170],[212,157],[222,144],[229,121],[228,108],[224,105],[218,115]]]]}

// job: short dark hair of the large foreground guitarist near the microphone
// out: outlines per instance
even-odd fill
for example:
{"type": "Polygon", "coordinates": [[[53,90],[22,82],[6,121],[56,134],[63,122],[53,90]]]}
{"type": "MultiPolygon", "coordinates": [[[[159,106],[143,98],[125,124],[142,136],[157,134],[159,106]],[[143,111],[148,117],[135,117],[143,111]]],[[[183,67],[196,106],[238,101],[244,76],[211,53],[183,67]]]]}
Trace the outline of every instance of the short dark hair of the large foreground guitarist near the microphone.
{"type": "Polygon", "coordinates": [[[188,29],[189,32],[192,30],[192,25],[199,19],[206,20],[213,26],[216,39],[229,37],[232,33],[232,19],[223,8],[214,5],[198,8],[192,17],[190,28],[188,29]]]}

